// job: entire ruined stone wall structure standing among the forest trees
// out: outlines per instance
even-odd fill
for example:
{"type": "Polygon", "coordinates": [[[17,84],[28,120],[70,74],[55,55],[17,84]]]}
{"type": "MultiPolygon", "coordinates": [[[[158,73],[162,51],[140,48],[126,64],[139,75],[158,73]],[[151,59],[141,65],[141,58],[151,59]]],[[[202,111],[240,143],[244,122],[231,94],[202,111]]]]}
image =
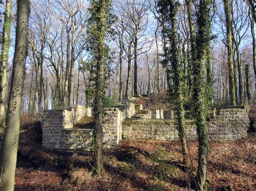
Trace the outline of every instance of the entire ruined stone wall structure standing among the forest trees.
{"type": "MultiPolygon", "coordinates": [[[[250,128],[248,109],[225,108],[217,114],[212,111],[208,121],[210,140],[234,140],[247,136],[250,128]]],[[[185,133],[188,140],[197,140],[196,125],[188,111],[185,133]]],[[[67,109],[45,110],[41,118],[43,147],[58,149],[82,149],[91,147],[93,126],[76,128],[83,117],[91,117],[92,109],[76,105],[67,109]]],[[[119,103],[117,108],[105,108],[103,119],[103,146],[117,146],[124,139],[179,140],[174,111],[144,109],[131,102],[119,103]]]]}

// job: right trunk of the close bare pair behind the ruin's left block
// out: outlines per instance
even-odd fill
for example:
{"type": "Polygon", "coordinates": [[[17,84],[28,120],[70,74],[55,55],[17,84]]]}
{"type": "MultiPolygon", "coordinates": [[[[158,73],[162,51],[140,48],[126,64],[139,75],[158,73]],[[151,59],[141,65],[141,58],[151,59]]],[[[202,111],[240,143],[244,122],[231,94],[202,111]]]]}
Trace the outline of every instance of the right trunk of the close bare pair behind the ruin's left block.
{"type": "Polygon", "coordinates": [[[69,106],[74,104],[75,40],[73,38],[74,37],[73,37],[73,34],[72,34],[72,40],[71,40],[71,62],[70,62],[69,106]]]}

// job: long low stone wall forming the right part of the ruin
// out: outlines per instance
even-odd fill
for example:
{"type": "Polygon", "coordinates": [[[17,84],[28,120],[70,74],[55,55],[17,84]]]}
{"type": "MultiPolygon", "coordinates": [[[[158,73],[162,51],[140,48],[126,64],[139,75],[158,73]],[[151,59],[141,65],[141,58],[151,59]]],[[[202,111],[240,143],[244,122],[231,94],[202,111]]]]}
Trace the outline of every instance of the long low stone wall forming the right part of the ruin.
{"type": "MultiPolygon", "coordinates": [[[[126,119],[123,121],[124,139],[179,140],[177,126],[173,119],[126,119]]],[[[250,127],[248,109],[221,109],[219,114],[208,122],[210,140],[233,140],[247,136],[250,127]]],[[[196,125],[185,121],[188,140],[197,140],[196,125]]]]}

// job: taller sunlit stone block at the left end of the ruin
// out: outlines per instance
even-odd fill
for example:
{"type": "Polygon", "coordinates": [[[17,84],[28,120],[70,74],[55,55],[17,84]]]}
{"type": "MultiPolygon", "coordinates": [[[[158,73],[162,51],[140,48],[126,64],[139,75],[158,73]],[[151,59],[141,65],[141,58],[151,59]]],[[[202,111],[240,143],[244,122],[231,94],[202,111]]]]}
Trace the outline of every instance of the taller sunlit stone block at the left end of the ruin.
{"type": "MultiPolygon", "coordinates": [[[[106,108],[103,119],[103,146],[116,146],[122,139],[122,113],[117,108],[106,108]]],[[[92,129],[73,129],[83,116],[91,116],[90,108],[77,105],[63,110],[45,110],[41,118],[42,146],[60,149],[89,149],[92,129]]]]}

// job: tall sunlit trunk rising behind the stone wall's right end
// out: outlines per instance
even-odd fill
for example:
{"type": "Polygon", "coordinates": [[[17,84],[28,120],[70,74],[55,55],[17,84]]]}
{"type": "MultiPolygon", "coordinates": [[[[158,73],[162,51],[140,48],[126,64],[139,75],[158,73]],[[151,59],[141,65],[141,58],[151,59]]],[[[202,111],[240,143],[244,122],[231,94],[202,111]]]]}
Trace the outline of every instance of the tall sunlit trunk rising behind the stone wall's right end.
{"type": "Polygon", "coordinates": [[[223,3],[224,3],[225,15],[226,15],[226,28],[227,28],[227,53],[228,53],[228,76],[229,76],[229,84],[230,84],[230,104],[237,105],[236,97],[235,97],[230,1],[223,0],[223,3]]]}

